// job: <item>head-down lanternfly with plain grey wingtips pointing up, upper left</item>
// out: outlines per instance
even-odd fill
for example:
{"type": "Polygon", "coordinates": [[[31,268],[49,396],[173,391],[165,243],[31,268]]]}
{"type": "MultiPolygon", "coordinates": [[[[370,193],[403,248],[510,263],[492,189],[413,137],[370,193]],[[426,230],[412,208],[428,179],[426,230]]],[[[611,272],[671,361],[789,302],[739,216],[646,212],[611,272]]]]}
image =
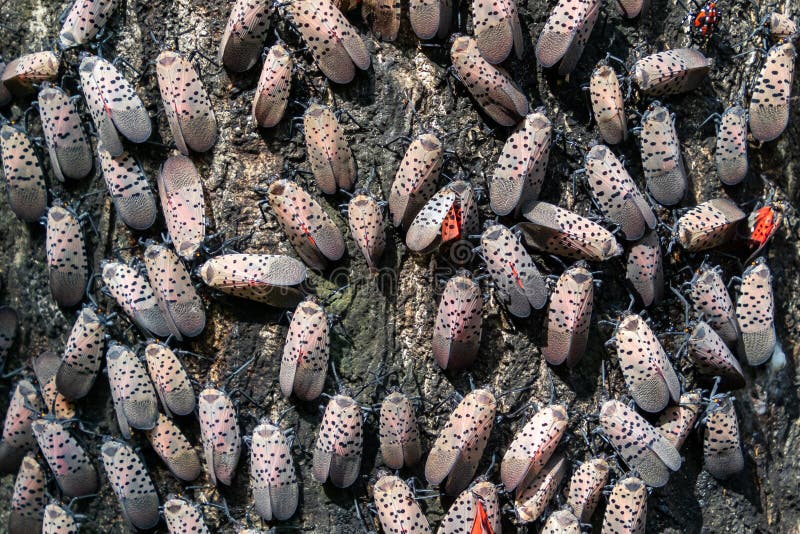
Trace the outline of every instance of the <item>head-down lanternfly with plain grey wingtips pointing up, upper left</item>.
{"type": "Polygon", "coordinates": [[[161,210],[175,252],[191,261],[206,235],[206,203],[200,174],[192,160],[177,154],[168,157],[161,166],[157,182],[161,210]]]}

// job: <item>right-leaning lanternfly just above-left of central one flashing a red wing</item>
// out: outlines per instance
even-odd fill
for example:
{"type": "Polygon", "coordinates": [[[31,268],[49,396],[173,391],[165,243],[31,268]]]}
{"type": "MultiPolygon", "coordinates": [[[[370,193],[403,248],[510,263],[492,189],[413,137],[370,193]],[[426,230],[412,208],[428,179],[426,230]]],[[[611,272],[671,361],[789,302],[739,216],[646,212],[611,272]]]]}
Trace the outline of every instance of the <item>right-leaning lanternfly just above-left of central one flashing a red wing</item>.
{"type": "Polygon", "coordinates": [[[408,228],[436,190],[443,163],[442,142],[435,135],[422,134],[408,145],[389,193],[392,224],[408,228]]]}

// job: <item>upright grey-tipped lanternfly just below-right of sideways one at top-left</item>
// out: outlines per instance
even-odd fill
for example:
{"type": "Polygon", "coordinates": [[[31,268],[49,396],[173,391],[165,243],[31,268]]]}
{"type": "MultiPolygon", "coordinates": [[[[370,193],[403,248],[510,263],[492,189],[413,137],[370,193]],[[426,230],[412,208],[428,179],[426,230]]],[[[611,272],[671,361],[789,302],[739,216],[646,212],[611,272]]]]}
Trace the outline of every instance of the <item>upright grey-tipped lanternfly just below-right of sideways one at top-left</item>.
{"type": "Polygon", "coordinates": [[[39,116],[56,178],[63,182],[65,178],[79,180],[88,176],[92,170],[92,146],[75,103],[62,89],[46,86],[39,91],[39,116]]]}

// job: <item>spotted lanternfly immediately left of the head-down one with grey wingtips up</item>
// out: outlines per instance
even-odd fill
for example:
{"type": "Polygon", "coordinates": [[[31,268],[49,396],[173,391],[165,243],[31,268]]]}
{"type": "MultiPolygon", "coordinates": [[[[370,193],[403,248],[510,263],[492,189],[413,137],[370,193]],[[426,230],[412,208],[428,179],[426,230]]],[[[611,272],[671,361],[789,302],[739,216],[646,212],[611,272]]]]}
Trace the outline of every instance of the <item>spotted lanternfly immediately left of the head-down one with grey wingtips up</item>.
{"type": "Polygon", "coordinates": [[[128,152],[118,156],[98,148],[100,168],[117,215],[134,230],[147,230],[156,221],[158,207],[142,167],[128,152]]]}

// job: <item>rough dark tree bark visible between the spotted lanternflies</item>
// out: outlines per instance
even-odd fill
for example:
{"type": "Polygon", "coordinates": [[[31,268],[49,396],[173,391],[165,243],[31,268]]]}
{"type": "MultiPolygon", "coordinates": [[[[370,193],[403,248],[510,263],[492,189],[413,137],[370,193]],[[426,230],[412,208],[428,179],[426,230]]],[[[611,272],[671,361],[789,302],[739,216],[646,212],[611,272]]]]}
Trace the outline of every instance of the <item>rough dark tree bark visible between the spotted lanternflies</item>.
{"type": "MultiPolygon", "coordinates": [[[[110,38],[102,47],[103,54],[124,58],[141,74],[137,79],[136,73],[127,72],[129,78],[135,80],[135,86],[154,117],[156,139],[172,143],[152,64],[160,45],[150,35],[167,46],[177,44],[182,52],[197,50],[203,56],[213,58],[230,7],[224,0],[128,0],[112,18],[107,33],[110,38]]],[[[687,45],[687,24],[683,23],[685,12],[672,0],[655,0],[649,13],[641,20],[628,21],[620,18],[613,5],[603,6],[603,15],[577,69],[565,80],[552,72],[543,72],[533,60],[533,45],[552,7],[553,2],[542,0],[521,2],[525,59],[511,61],[507,67],[532,105],[546,108],[555,128],[570,141],[587,145],[597,137],[597,131],[590,122],[587,99],[581,87],[588,82],[595,63],[606,52],[630,65],[637,54],[687,45]]],[[[8,60],[20,53],[47,47],[57,35],[57,18],[64,8],[65,4],[52,0],[5,2],[0,7],[4,24],[0,30],[4,36],[0,45],[2,55],[8,60]],[[16,29],[17,33],[12,34],[9,28],[16,29]]],[[[448,79],[449,44],[419,46],[408,24],[406,5],[403,9],[401,33],[395,43],[375,40],[361,23],[357,12],[351,13],[351,20],[356,22],[372,54],[372,67],[368,72],[359,73],[356,80],[347,86],[331,87],[335,100],[328,103],[345,112],[342,122],[357,158],[360,185],[364,185],[374,172],[370,188],[386,198],[400,156],[382,145],[398,136],[433,130],[450,134],[446,147],[458,156],[446,164],[445,174],[454,176],[463,170],[469,173],[476,185],[485,186],[486,177],[493,171],[508,132],[488,123],[488,119],[476,111],[475,103],[463,86],[448,79]],[[463,167],[459,168],[459,162],[463,167]]],[[[752,3],[744,0],[725,2],[721,9],[722,23],[708,50],[716,63],[707,82],[691,94],[665,100],[677,115],[678,134],[692,184],[683,205],[692,206],[717,196],[730,196],[740,204],[759,198],[766,192],[759,175],[776,184],[779,198],[795,204],[800,195],[800,128],[797,126],[800,113],[797,105],[793,105],[788,129],[776,142],[760,148],[751,146],[751,173],[743,185],[723,188],[716,177],[714,127],[711,123],[702,127],[700,124],[710,113],[721,112],[736,97],[742,80],[751,79],[757,73],[758,63],[751,60],[751,56],[736,58],[734,55],[740,49],[752,46],[744,41],[763,15],[756,13],[752,3]]],[[[461,30],[471,31],[468,6],[462,5],[460,13],[461,30]]],[[[275,18],[277,20],[280,16],[275,18]]],[[[285,22],[281,20],[277,27],[291,48],[301,48],[285,22]]],[[[267,44],[272,40],[270,37],[267,44]]],[[[266,220],[262,218],[257,205],[259,196],[254,188],[264,185],[285,165],[308,169],[302,132],[290,127],[290,119],[302,115],[303,109],[297,102],[308,101],[312,94],[308,83],[319,88],[322,78],[308,63],[307,57],[298,55],[300,57],[303,58],[300,62],[305,67],[305,74],[298,72],[294,77],[294,103],[290,104],[286,119],[271,131],[254,128],[250,119],[259,67],[233,75],[219,70],[200,55],[195,57],[214,104],[220,138],[214,149],[193,156],[193,160],[203,176],[212,230],[223,232],[225,237],[246,236],[237,245],[241,251],[294,254],[274,217],[268,213],[266,220]]],[[[74,69],[78,61],[75,51],[67,52],[65,58],[74,69]]],[[[794,84],[794,94],[798,94],[797,85],[794,84]]],[[[74,81],[67,80],[67,86],[74,89],[74,81]]],[[[326,99],[329,100],[330,96],[326,99]]],[[[629,109],[643,111],[647,103],[634,96],[629,109]]],[[[21,116],[25,107],[25,103],[15,102],[12,115],[21,116]]],[[[33,134],[39,129],[38,119],[32,120],[30,130],[33,134]]],[[[399,150],[402,147],[394,144],[391,148],[399,150]]],[[[153,146],[137,146],[131,150],[155,185],[155,174],[168,150],[153,146]]],[[[642,184],[635,141],[624,144],[622,153],[627,157],[631,174],[642,184]]],[[[572,144],[555,143],[542,198],[580,213],[592,212],[584,188],[579,187],[576,196],[572,194],[570,173],[580,166],[581,155],[572,144]]],[[[300,176],[298,180],[315,195],[318,193],[311,179],[300,176]]],[[[99,231],[100,237],[88,229],[86,232],[95,270],[102,258],[115,252],[126,259],[141,256],[137,244],[141,236],[131,233],[115,217],[102,178],[96,176],[69,189],[54,180],[51,180],[51,185],[54,196],[69,200],[77,200],[84,193],[97,192],[84,197],[79,204],[80,211],[91,214],[99,231]]],[[[338,205],[346,202],[347,198],[341,194],[327,198],[318,195],[318,198],[345,231],[345,218],[337,215],[337,211],[338,205]]],[[[488,205],[481,209],[483,219],[493,218],[488,205]]],[[[668,210],[659,210],[659,216],[668,224],[673,220],[668,210]]],[[[512,224],[510,220],[505,222],[512,224]]],[[[797,222],[796,213],[789,209],[768,254],[775,280],[776,324],[787,355],[787,365],[781,370],[772,370],[769,365],[747,368],[748,385],[736,392],[735,404],[746,468],[725,482],[709,476],[702,470],[702,435],[695,432],[683,448],[685,462],[680,472],[672,476],[665,488],[653,491],[650,496],[648,532],[800,530],[800,455],[797,454],[800,449],[800,403],[796,385],[800,350],[800,299],[797,294],[800,260],[795,231],[797,222]]],[[[157,225],[144,237],[156,238],[162,229],[163,226],[157,225]]],[[[668,232],[663,229],[661,234],[664,239],[668,237],[668,232]]],[[[27,365],[29,359],[41,351],[61,351],[75,313],[59,310],[50,296],[42,229],[25,227],[14,218],[5,202],[0,203],[0,245],[2,300],[14,306],[21,317],[21,332],[6,364],[9,370],[27,365]]],[[[687,255],[676,247],[666,258],[667,279],[677,286],[690,276],[680,269],[686,265],[696,267],[701,259],[702,255],[687,255]]],[[[726,277],[740,274],[740,268],[730,259],[722,256],[713,259],[723,262],[726,277]]],[[[558,274],[562,270],[556,261],[546,256],[538,258],[537,262],[548,273],[558,274]]],[[[543,342],[545,313],[535,313],[530,320],[511,320],[494,300],[484,307],[483,341],[477,364],[469,373],[442,372],[432,358],[430,339],[438,288],[441,287],[438,275],[449,272],[448,263],[410,254],[402,236],[389,230],[389,246],[382,266],[391,274],[377,278],[370,275],[354,243],[348,240],[348,255],[338,262],[335,271],[323,277],[312,277],[312,284],[322,296],[349,283],[347,289],[333,298],[328,306],[330,312],[341,318],[349,336],[348,339],[342,334],[334,335],[331,356],[342,382],[352,392],[361,391],[362,385],[369,383],[358,396],[364,406],[376,405],[390,385],[399,386],[410,396],[418,397],[418,416],[427,447],[455,405],[455,392],[463,394],[474,383],[491,387],[500,394],[532,380],[532,389],[500,399],[499,411],[511,413],[527,402],[538,405],[549,402],[548,376],[552,375],[555,400],[568,404],[570,414],[568,434],[562,447],[571,460],[590,457],[592,453],[581,434],[582,431],[590,433],[597,425],[592,416],[596,415],[606,395],[600,380],[601,362],[606,363],[609,393],[615,397],[626,393],[616,354],[613,349],[603,346],[612,329],[597,323],[597,319],[617,317],[628,305],[621,261],[592,266],[595,271],[601,271],[597,278],[602,280],[602,286],[595,292],[589,348],[580,365],[573,371],[551,368],[549,372],[538,349],[543,342]],[[382,377],[378,386],[373,382],[376,376],[382,377]]],[[[378,530],[367,506],[371,501],[371,483],[381,466],[377,414],[368,415],[366,419],[364,460],[359,481],[344,491],[318,484],[310,474],[311,453],[326,401],[287,402],[280,394],[277,376],[287,331],[285,317],[280,310],[223,298],[207,288],[202,288],[201,294],[207,306],[208,326],[197,340],[183,346],[208,356],[208,359],[184,358],[197,382],[223,384],[231,371],[249,358],[255,358],[227,384],[239,400],[239,420],[245,435],[252,432],[260,418],[274,419],[287,407],[296,408],[283,419],[285,426],[294,428],[295,461],[302,484],[300,508],[288,524],[314,532],[378,530]],[[360,508],[363,519],[356,514],[355,506],[360,508]]],[[[669,293],[668,296],[671,297],[669,293]]],[[[682,312],[676,299],[668,298],[648,310],[648,315],[654,328],[665,332],[682,328],[682,312]]],[[[130,331],[123,332],[125,325],[122,322],[118,324],[122,326],[115,328],[116,335],[135,342],[130,331]]],[[[681,341],[679,336],[664,338],[671,354],[675,353],[681,341]]],[[[686,387],[696,385],[688,362],[683,360],[677,365],[686,377],[686,387]]],[[[0,382],[0,397],[8,398],[12,383],[10,378],[0,382]]],[[[326,390],[332,393],[335,389],[335,383],[329,380],[326,390]]],[[[3,402],[4,409],[5,406],[6,401],[3,402]]],[[[118,434],[104,378],[98,380],[90,397],[78,403],[78,414],[89,425],[96,425],[99,433],[118,434]]],[[[492,455],[497,455],[499,461],[513,433],[524,423],[523,419],[501,420],[495,425],[480,471],[489,466],[492,455]]],[[[183,418],[179,424],[195,443],[199,442],[195,419],[183,418]]],[[[87,436],[87,440],[90,450],[99,455],[99,439],[87,436]]],[[[134,441],[141,446],[162,498],[170,492],[181,491],[181,485],[169,475],[143,436],[137,434],[134,441]]],[[[610,452],[598,438],[593,439],[593,446],[610,452]]],[[[251,503],[247,469],[247,450],[244,449],[232,488],[184,492],[197,501],[220,502],[224,498],[232,515],[245,522],[251,503]]],[[[498,480],[497,467],[494,469],[492,479],[498,480]]],[[[405,477],[416,475],[424,480],[422,466],[402,474],[405,477]]],[[[616,475],[619,474],[618,471],[616,475]]],[[[0,501],[8,503],[13,477],[6,476],[1,482],[0,501]]],[[[438,523],[450,502],[449,499],[423,501],[422,506],[432,525],[438,523]]],[[[506,498],[505,502],[508,508],[509,499],[506,498]]],[[[97,498],[77,504],[76,509],[91,518],[85,525],[87,531],[130,529],[121,518],[117,502],[105,481],[97,498]]],[[[7,506],[0,507],[2,525],[6,524],[7,510],[7,506]]],[[[247,517],[255,518],[252,510],[247,517]]],[[[206,509],[206,519],[214,528],[234,529],[233,524],[213,508],[206,509]]],[[[600,528],[601,521],[602,507],[594,516],[595,529],[600,528]]],[[[503,530],[535,529],[518,527],[514,523],[513,514],[506,514],[503,530]]],[[[163,525],[160,528],[163,530],[163,525]]]]}

